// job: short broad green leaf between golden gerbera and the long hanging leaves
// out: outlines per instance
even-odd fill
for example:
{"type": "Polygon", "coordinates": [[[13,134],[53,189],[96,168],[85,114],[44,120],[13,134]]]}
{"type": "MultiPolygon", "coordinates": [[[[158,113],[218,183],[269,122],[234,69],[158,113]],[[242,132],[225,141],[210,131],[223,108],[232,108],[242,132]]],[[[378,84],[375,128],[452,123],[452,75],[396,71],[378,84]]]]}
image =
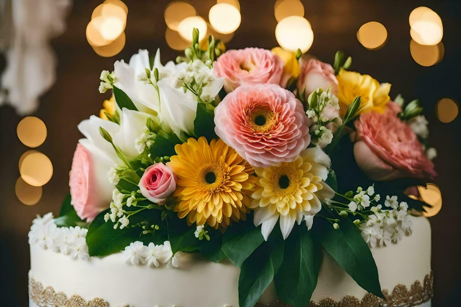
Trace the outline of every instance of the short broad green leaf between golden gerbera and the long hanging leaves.
{"type": "Polygon", "coordinates": [[[227,229],[221,249],[236,266],[240,267],[263,241],[261,226],[254,227],[253,216],[247,216],[246,221],[235,223],[227,229]]]}

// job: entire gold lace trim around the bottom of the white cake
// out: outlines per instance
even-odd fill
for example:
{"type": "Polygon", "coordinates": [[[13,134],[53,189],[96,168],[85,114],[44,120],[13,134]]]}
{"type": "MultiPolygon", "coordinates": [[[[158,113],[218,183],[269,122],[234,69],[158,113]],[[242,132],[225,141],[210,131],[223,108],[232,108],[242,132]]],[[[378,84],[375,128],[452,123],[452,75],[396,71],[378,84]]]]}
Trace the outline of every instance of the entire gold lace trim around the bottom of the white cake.
{"type": "MultiPolygon", "coordinates": [[[[331,298],[320,301],[318,304],[311,301],[308,307],[414,307],[429,301],[434,294],[433,289],[434,278],[432,271],[424,278],[424,285],[421,286],[419,280],[411,285],[408,291],[403,284],[398,284],[392,291],[392,295],[388,290],[383,290],[384,297],[382,298],[368,293],[360,301],[358,298],[347,295],[340,302],[336,302],[331,298]]],[[[95,297],[91,301],[85,301],[80,295],[72,295],[69,299],[63,292],[57,292],[53,287],[48,286],[43,289],[43,285],[36,282],[34,278],[29,277],[29,297],[40,307],[109,307],[109,303],[99,297],[95,297]]],[[[133,307],[125,304],[121,307],[133,307]]],[[[263,304],[257,303],[255,307],[264,307],[263,304]]],[[[281,301],[274,301],[267,307],[290,307],[281,301]]]]}

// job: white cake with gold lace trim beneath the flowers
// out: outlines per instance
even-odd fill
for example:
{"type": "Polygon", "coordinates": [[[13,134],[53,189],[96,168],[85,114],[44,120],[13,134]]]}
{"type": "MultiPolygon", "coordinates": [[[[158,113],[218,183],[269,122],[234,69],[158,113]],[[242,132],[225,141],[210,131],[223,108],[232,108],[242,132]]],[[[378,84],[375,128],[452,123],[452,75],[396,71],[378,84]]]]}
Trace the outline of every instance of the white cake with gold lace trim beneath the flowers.
{"type": "MultiPolygon", "coordinates": [[[[431,228],[411,217],[413,234],[372,248],[387,301],[368,294],[324,252],[310,307],[431,306],[431,228]]],[[[181,254],[179,266],[128,265],[122,253],[89,260],[30,246],[30,307],[238,307],[239,269],[181,254]]],[[[269,286],[258,307],[284,306],[269,286]]]]}

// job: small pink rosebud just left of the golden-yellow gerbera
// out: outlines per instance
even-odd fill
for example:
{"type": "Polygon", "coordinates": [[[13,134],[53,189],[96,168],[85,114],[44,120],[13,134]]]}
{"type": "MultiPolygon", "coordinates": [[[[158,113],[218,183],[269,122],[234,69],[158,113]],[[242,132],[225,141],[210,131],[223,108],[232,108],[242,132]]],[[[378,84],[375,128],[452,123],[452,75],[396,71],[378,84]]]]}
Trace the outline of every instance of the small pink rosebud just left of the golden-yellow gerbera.
{"type": "Polygon", "coordinates": [[[155,163],[146,168],[139,181],[142,196],[153,203],[164,205],[176,189],[176,175],[163,163],[155,163]]]}

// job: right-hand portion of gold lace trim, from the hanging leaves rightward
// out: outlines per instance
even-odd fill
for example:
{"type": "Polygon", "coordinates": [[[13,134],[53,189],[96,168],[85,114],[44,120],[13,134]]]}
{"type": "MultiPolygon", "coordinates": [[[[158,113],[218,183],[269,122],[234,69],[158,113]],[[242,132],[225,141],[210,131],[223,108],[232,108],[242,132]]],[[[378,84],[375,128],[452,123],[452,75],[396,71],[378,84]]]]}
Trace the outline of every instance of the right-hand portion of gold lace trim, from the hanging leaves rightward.
{"type": "MultiPolygon", "coordinates": [[[[423,286],[419,280],[415,281],[411,285],[408,291],[407,286],[398,284],[392,291],[392,295],[389,294],[388,290],[383,290],[384,297],[386,300],[368,293],[362,300],[347,295],[341,301],[336,302],[331,298],[327,298],[319,303],[311,301],[308,307],[414,307],[419,306],[426,301],[431,300],[434,294],[434,277],[431,273],[427,274],[424,278],[423,286]]],[[[274,301],[267,307],[290,307],[281,301],[274,301]]],[[[258,303],[255,307],[265,307],[258,303]]]]}

